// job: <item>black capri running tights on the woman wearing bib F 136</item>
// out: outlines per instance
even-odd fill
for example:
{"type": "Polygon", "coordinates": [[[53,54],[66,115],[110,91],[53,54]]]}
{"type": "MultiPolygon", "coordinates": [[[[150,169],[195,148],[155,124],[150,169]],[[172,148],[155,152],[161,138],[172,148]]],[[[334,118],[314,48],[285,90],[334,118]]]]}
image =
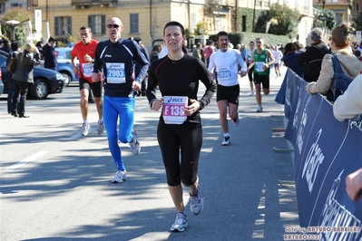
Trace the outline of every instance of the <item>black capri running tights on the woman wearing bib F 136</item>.
{"type": "Polygon", "coordinates": [[[196,182],[202,145],[201,123],[165,124],[160,118],[157,139],[166,169],[167,184],[186,186],[196,182]],[[180,162],[181,150],[181,162],[180,162]]]}

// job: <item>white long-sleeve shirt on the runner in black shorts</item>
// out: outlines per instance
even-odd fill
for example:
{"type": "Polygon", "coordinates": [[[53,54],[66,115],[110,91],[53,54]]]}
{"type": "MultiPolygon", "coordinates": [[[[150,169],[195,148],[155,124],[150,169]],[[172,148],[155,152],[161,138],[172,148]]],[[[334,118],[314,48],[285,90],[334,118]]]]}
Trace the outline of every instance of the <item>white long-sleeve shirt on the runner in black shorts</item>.
{"type": "Polygon", "coordinates": [[[222,86],[234,86],[239,84],[238,81],[238,64],[241,71],[247,71],[247,64],[241,58],[240,53],[235,49],[228,49],[227,52],[215,52],[210,56],[208,70],[218,73],[218,83],[222,86]]]}

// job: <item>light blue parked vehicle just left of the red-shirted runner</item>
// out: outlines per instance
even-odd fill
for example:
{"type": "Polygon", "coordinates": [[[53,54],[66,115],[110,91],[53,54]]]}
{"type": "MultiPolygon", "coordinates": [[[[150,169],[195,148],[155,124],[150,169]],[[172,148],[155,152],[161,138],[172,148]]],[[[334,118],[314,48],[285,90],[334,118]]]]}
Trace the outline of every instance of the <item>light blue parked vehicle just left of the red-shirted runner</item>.
{"type": "Polygon", "coordinates": [[[65,79],[65,86],[68,86],[71,82],[79,82],[78,74],[73,73],[72,50],[73,47],[55,48],[56,60],[58,62],[56,71],[62,73],[65,79]]]}

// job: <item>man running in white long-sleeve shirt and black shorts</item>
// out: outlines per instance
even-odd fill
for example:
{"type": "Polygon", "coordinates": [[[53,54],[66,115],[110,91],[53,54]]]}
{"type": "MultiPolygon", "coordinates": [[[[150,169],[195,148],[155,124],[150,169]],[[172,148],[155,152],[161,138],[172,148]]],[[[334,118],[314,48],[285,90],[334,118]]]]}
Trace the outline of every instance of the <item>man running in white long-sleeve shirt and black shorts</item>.
{"type": "Polygon", "coordinates": [[[229,146],[231,142],[227,113],[229,109],[232,124],[237,127],[240,122],[238,111],[240,96],[238,64],[241,66],[241,77],[247,74],[247,64],[237,50],[229,48],[228,33],[221,31],[217,34],[217,38],[220,50],[211,54],[208,70],[214,72],[215,69],[215,72],[217,72],[218,88],[216,101],[219,108],[220,126],[224,134],[224,140],[221,142],[221,145],[229,146]]]}

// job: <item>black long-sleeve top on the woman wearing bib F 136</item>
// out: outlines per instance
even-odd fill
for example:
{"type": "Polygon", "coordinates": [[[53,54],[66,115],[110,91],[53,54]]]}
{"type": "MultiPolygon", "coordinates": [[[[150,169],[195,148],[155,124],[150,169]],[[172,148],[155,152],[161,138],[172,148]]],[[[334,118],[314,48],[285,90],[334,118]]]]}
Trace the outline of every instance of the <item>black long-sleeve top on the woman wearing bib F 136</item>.
{"type": "MultiPolygon", "coordinates": [[[[150,103],[156,98],[157,86],[160,88],[162,97],[187,96],[189,100],[198,100],[199,111],[210,103],[210,99],[216,92],[216,82],[207,70],[205,63],[187,54],[178,61],[172,61],[165,56],[151,64],[147,87],[147,99],[150,103]],[[200,100],[197,98],[199,81],[206,87],[200,100]]],[[[187,120],[201,122],[199,111],[196,111],[187,120]]]]}

